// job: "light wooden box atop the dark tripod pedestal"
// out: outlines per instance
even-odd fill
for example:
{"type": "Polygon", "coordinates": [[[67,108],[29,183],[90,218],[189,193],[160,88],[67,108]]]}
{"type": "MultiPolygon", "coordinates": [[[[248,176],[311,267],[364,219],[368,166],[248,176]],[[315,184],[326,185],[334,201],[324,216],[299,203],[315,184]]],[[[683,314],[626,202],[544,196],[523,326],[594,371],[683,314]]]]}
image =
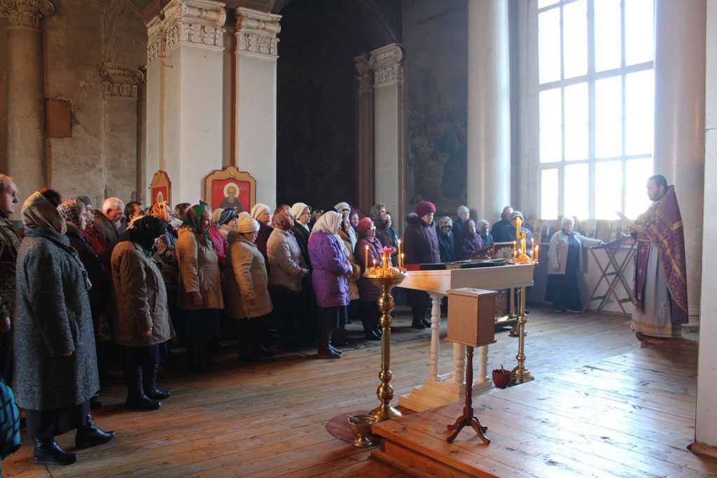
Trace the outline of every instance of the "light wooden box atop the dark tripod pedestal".
{"type": "Polygon", "coordinates": [[[447,292],[447,340],[470,347],[495,343],[495,297],[498,292],[471,287],[447,292]]]}

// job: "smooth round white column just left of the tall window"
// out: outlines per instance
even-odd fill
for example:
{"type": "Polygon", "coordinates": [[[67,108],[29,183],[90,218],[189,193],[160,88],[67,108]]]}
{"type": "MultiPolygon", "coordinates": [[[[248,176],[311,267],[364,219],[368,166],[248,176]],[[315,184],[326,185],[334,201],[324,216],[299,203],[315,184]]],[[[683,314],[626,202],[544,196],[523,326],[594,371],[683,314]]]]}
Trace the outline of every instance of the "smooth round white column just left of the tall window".
{"type": "Polygon", "coordinates": [[[487,219],[511,204],[508,3],[468,0],[467,206],[487,219]]]}

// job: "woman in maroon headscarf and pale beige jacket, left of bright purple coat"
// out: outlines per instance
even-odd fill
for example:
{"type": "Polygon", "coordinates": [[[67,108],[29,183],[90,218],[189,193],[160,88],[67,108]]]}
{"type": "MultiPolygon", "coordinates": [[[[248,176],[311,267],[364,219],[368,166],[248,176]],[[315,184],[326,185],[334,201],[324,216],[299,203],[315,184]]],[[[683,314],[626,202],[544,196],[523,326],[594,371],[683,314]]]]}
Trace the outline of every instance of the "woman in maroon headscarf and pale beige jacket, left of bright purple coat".
{"type": "Polygon", "coordinates": [[[275,315],[281,322],[280,340],[284,350],[298,350],[300,326],[301,279],[309,269],[291,231],[294,218],[288,205],[278,206],[272,216],[274,230],[267,241],[269,257],[269,292],[275,315]]]}

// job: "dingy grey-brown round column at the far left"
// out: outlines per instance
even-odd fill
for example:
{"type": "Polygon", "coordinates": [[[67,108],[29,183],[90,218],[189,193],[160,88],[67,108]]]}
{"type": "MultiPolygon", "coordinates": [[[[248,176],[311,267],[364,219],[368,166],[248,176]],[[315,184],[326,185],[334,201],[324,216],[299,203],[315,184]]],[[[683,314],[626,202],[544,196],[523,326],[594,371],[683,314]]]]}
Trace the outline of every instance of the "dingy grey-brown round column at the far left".
{"type": "Polygon", "coordinates": [[[7,172],[22,204],[46,186],[42,19],[54,14],[54,5],[49,0],[4,0],[1,8],[8,19],[7,172]]]}

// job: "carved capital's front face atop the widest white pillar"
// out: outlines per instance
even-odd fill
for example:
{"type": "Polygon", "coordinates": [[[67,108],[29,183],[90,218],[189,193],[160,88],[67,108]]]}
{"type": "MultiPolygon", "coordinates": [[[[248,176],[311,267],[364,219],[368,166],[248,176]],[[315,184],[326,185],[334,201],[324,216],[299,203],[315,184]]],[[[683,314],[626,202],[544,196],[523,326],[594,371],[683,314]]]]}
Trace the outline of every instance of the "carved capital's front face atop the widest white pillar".
{"type": "Polygon", "coordinates": [[[227,12],[220,1],[172,0],[163,9],[166,49],[180,43],[224,47],[227,12]]]}

